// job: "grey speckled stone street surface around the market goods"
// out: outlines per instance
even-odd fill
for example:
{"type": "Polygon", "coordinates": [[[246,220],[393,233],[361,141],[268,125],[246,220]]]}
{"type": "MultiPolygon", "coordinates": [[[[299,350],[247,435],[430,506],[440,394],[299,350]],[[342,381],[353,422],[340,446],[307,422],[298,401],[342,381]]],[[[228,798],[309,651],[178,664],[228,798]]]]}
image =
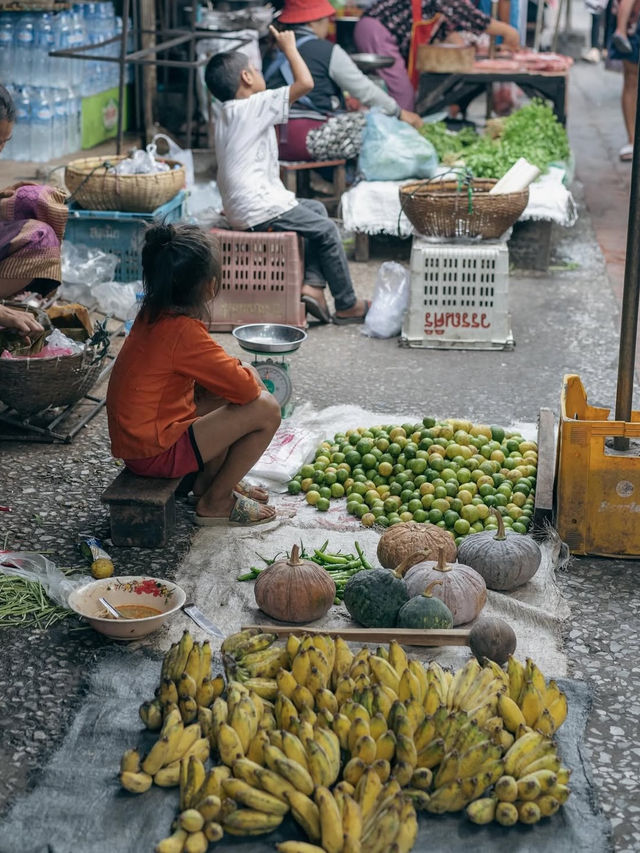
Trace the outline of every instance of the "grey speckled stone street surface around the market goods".
{"type": "MultiPolygon", "coordinates": [[[[626,141],[620,89],[621,76],[602,66],[577,63],[571,72],[572,189],[580,218],[574,228],[554,227],[548,272],[512,270],[513,351],[405,349],[396,339],[369,339],[357,327],[314,328],[291,358],[298,400],[317,410],[349,402],[507,425],[535,422],[548,407],[557,425],[563,376],[577,373],[591,403],[613,408],[630,182],[630,166],[617,154],[626,141]]],[[[23,177],[29,177],[24,164],[0,160],[0,186],[23,177]]],[[[368,263],[351,264],[362,295],[372,294],[380,263],[391,258],[406,263],[408,244],[376,241],[368,263]]],[[[220,341],[240,354],[230,335],[220,341]]],[[[0,454],[0,503],[13,509],[0,514],[0,547],[44,551],[59,566],[84,568],[76,537],[108,540],[100,494],[118,471],[104,413],[69,445],[7,442],[0,454]]],[[[190,547],[191,519],[179,503],[175,534],[164,549],[109,546],[117,572],[176,577],[190,547]]],[[[573,558],[557,577],[571,608],[569,674],[594,691],[585,747],[595,792],[611,822],[612,849],[627,853],[640,850],[638,568],[637,560],[573,558]]],[[[90,673],[114,652],[75,619],[49,630],[3,630],[1,639],[0,815],[6,815],[37,783],[68,731],[90,673]]],[[[0,850],[2,834],[0,817],[0,850]]]]}

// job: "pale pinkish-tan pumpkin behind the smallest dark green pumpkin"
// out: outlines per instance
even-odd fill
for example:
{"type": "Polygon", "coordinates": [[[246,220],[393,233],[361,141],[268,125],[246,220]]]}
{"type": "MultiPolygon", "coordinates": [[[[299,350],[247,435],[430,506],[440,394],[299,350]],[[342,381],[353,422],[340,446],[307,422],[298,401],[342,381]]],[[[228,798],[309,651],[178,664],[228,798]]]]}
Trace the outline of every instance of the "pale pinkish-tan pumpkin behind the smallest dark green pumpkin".
{"type": "Polygon", "coordinates": [[[441,580],[442,586],[434,595],[452,612],[454,625],[472,622],[486,603],[487,585],[482,575],[464,563],[448,563],[444,548],[438,550],[437,560],[429,559],[428,552],[411,554],[396,571],[404,577],[412,598],[422,595],[432,581],[441,580]]]}

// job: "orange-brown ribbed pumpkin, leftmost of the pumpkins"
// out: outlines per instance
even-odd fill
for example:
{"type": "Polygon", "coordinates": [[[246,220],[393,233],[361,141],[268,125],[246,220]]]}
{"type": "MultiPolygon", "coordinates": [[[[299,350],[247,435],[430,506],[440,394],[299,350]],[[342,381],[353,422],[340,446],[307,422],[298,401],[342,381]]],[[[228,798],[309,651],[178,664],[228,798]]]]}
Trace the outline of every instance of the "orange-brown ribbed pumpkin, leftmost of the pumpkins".
{"type": "Polygon", "coordinates": [[[336,585],[321,566],[300,559],[294,545],[288,560],[277,560],[260,572],[255,584],[256,604],[281,622],[313,622],[329,610],[336,585]]]}

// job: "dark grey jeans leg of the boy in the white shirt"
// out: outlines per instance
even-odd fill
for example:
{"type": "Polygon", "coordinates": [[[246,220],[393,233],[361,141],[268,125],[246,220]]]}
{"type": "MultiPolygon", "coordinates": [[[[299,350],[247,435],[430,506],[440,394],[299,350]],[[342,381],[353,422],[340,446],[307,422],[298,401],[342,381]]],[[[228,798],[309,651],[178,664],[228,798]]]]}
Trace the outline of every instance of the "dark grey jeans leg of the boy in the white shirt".
{"type": "MultiPolygon", "coordinates": [[[[323,204],[314,199],[300,199],[298,204],[277,219],[255,226],[256,231],[296,231],[305,240],[329,285],[336,308],[336,318],[360,317],[368,305],[357,299],[349,273],[338,228],[327,215],[323,204]]],[[[322,296],[319,288],[315,288],[322,296]]]]}

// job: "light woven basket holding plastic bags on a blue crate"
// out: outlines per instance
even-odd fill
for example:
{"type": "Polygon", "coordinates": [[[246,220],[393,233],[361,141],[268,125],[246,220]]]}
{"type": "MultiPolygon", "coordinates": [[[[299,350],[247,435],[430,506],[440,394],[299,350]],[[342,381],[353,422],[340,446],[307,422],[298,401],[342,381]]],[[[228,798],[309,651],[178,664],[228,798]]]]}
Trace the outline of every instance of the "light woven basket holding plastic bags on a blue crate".
{"type": "Polygon", "coordinates": [[[171,168],[153,175],[113,175],[109,167],[126,157],[84,157],[72,160],[64,179],[73,199],[85,210],[151,213],[176,196],[185,185],[184,166],[163,160],[171,168]]]}

